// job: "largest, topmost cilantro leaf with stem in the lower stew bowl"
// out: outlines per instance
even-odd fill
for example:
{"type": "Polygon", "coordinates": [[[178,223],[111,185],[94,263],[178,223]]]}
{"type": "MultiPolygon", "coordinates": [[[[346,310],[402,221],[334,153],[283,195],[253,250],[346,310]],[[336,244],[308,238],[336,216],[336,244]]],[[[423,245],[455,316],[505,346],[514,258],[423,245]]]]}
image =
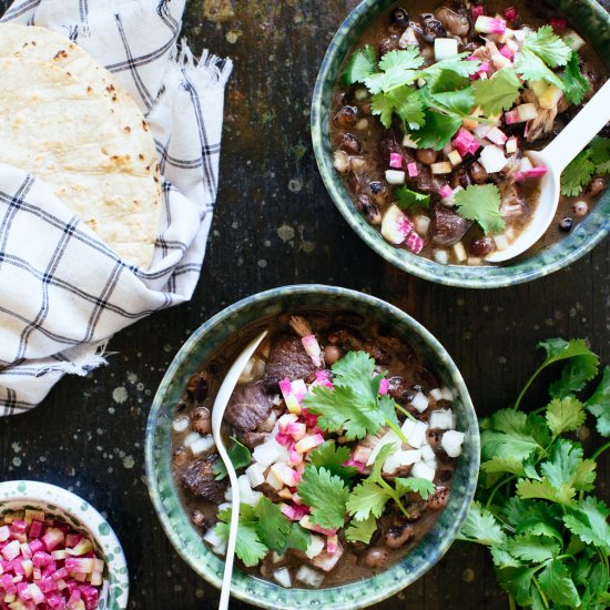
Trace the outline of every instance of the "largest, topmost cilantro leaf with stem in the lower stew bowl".
{"type": "Polygon", "coordinates": [[[375,360],[366,352],[349,352],[332,368],[334,389],[316,386],[303,399],[307,411],[318,416],[318,426],[349,440],[389,426],[406,443],[395,401],[387,394],[379,396],[384,375],[375,373],[375,360]]]}

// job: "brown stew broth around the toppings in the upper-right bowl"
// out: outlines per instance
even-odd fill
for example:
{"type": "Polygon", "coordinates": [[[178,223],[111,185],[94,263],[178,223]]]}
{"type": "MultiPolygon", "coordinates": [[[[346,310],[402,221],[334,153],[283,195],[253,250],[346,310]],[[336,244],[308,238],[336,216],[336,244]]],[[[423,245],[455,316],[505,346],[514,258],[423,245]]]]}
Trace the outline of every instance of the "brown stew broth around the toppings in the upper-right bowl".
{"type": "MultiPolygon", "coordinates": [[[[387,10],[385,10],[382,14],[379,14],[369,24],[369,27],[365,30],[365,32],[363,33],[358,42],[354,45],[354,50],[365,47],[366,44],[372,44],[375,49],[378,50],[382,42],[388,39],[388,35],[389,35],[388,27],[390,23],[390,14],[395,9],[399,7],[404,7],[407,10],[409,18],[411,20],[420,22],[421,13],[434,12],[436,9],[440,7],[449,7],[456,10],[457,8],[462,8],[465,6],[470,6],[470,3],[459,1],[459,0],[449,1],[449,2],[447,1],[429,2],[429,1],[421,1],[421,0],[413,0],[413,1],[409,1],[408,3],[393,2],[387,10]]],[[[492,1],[484,2],[484,6],[486,7],[486,11],[487,11],[486,13],[491,16],[495,14],[496,12],[499,12],[501,14],[502,10],[506,9],[507,7],[515,7],[519,11],[519,19],[517,23],[519,26],[527,24],[531,28],[538,28],[540,26],[543,26],[548,23],[549,17],[558,14],[555,9],[547,7],[546,4],[542,4],[540,0],[535,0],[533,2],[520,2],[520,1],[508,1],[508,0],[500,2],[500,1],[492,0],[492,1]],[[536,11],[537,14],[535,14],[535,12],[532,11],[536,11]]],[[[468,9],[468,13],[469,13],[469,9],[468,9]]],[[[470,21],[470,31],[468,34],[469,40],[471,39],[472,32],[474,32],[474,26],[472,26],[472,22],[470,21]]],[[[447,34],[447,35],[450,35],[450,34],[447,34]]],[[[427,44],[426,48],[424,49],[424,52],[426,52],[426,49],[431,49],[431,45],[427,44]]],[[[461,51],[461,48],[460,48],[460,51],[461,51]]],[[[599,59],[599,57],[597,55],[596,51],[593,50],[592,45],[589,42],[587,42],[584,47],[579,49],[578,53],[583,61],[583,64],[581,67],[582,73],[587,75],[593,75],[593,79],[597,81],[594,88],[596,89],[599,88],[608,75],[608,69],[599,59]]],[[[352,57],[352,53],[349,53],[349,55],[346,58],[344,67],[347,64],[350,57],[352,57]]],[[[434,52],[431,53],[431,57],[434,57],[434,52]]],[[[426,62],[426,64],[429,64],[429,63],[431,63],[431,59],[427,60],[426,62]]],[[[343,69],[340,73],[342,72],[343,72],[343,69]]],[[[384,155],[382,155],[379,152],[379,143],[382,142],[384,135],[388,133],[388,130],[386,130],[383,126],[383,124],[380,123],[377,116],[370,115],[370,112],[367,109],[368,99],[359,102],[355,98],[355,92],[358,89],[362,90],[363,88],[364,85],[362,84],[355,84],[355,85],[345,88],[340,84],[340,82],[337,83],[337,87],[334,93],[333,103],[331,106],[331,112],[329,112],[331,141],[333,143],[333,149],[338,150],[337,141],[340,138],[340,135],[346,131],[357,138],[357,140],[362,145],[362,151],[357,154],[357,156],[364,160],[364,167],[358,169],[357,172],[349,171],[347,174],[343,176],[343,180],[347,191],[349,192],[349,195],[354,202],[356,210],[359,209],[358,196],[360,194],[366,194],[374,201],[374,203],[377,204],[378,211],[383,214],[384,211],[387,209],[387,206],[394,201],[392,196],[393,187],[392,185],[388,185],[385,181],[385,171],[388,169],[388,164],[387,164],[387,161],[383,157],[384,155]],[[352,128],[339,126],[333,120],[335,114],[346,103],[348,105],[352,105],[358,109],[358,116],[357,116],[358,121],[352,128]],[[365,121],[363,121],[363,119],[365,121]],[[365,124],[366,126],[364,126],[365,124]],[[363,125],[363,128],[358,129],[358,125],[363,125]],[[379,199],[375,199],[372,196],[372,192],[368,189],[368,184],[372,182],[380,182],[386,186],[386,189],[388,190],[388,196],[385,199],[385,201],[380,202],[379,199]]],[[[526,143],[523,142],[522,138],[519,138],[519,149],[521,150],[542,149],[550,140],[552,140],[552,135],[557,135],[557,133],[561,131],[563,125],[576,114],[576,112],[579,109],[580,109],[580,105],[570,106],[568,111],[563,113],[559,113],[555,120],[555,125],[551,132],[551,136],[542,136],[541,139],[531,143],[526,143]]],[[[508,125],[504,125],[504,124],[500,125],[500,128],[504,129],[508,135],[510,134],[522,135],[523,126],[525,126],[525,123],[517,123],[516,125],[510,125],[511,129],[507,129],[509,128],[508,125]]],[[[394,129],[396,130],[396,125],[394,125],[394,129]]],[[[440,160],[441,157],[439,152],[439,157],[437,161],[440,161],[440,160]]],[[[460,163],[458,166],[453,169],[451,174],[445,174],[437,177],[439,177],[441,181],[445,181],[445,182],[447,182],[445,179],[449,177],[449,183],[451,183],[451,177],[455,175],[456,171],[459,170],[460,167],[468,167],[469,164],[470,164],[469,160],[465,159],[462,163],[460,163]]],[[[456,186],[456,185],[457,184],[455,183],[453,184],[453,186],[456,186]]],[[[408,186],[408,183],[407,183],[407,186],[408,186]]],[[[531,212],[536,209],[536,205],[539,199],[538,180],[526,181],[521,183],[521,186],[523,189],[525,213],[520,216],[505,217],[507,228],[509,230],[509,232],[512,233],[512,238],[515,238],[520,232],[523,231],[523,228],[527,227],[531,218],[531,212]]],[[[530,248],[526,255],[539,252],[540,250],[558,242],[562,236],[565,236],[566,232],[569,231],[566,228],[562,228],[560,225],[560,223],[565,218],[571,218],[573,221],[573,225],[571,225],[570,228],[572,228],[573,226],[577,226],[584,218],[584,216],[579,216],[578,214],[575,214],[573,204],[577,201],[584,201],[588,205],[588,210],[591,210],[591,207],[594,205],[594,201],[597,196],[600,194],[600,192],[603,190],[604,186],[606,186],[606,181],[603,179],[598,177],[597,185],[593,186],[593,184],[591,184],[591,186],[587,189],[579,196],[567,197],[561,195],[559,200],[557,213],[551,226],[548,228],[543,237],[532,248],[530,248]]],[[[417,187],[411,187],[411,189],[417,191],[417,187]]],[[[438,201],[439,201],[439,196],[436,194],[433,194],[431,205],[434,205],[438,201]]],[[[406,214],[411,220],[414,220],[416,216],[421,216],[421,215],[430,217],[431,210],[428,207],[413,206],[413,207],[409,207],[406,214]]],[[[363,215],[367,217],[366,213],[364,213],[363,215]]],[[[433,224],[434,222],[430,223],[430,228],[428,230],[427,235],[423,235],[425,241],[425,246],[420,252],[420,255],[430,260],[435,260],[434,258],[435,251],[447,250],[449,253],[449,263],[455,264],[456,261],[451,258],[453,255],[451,255],[450,245],[443,246],[440,244],[435,244],[431,240],[433,224]]],[[[379,228],[379,225],[377,225],[377,228],[379,228]]],[[[469,257],[468,264],[472,264],[472,265],[486,264],[485,258],[481,260],[480,255],[477,253],[476,246],[472,247],[472,244],[481,240],[482,237],[485,237],[482,230],[479,227],[477,223],[475,223],[468,230],[468,232],[464,235],[464,237],[460,240],[469,257]]],[[[396,247],[408,250],[405,244],[398,245],[396,247]]],[[[466,264],[466,262],[464,262],[462,264],[466,264]]]]}

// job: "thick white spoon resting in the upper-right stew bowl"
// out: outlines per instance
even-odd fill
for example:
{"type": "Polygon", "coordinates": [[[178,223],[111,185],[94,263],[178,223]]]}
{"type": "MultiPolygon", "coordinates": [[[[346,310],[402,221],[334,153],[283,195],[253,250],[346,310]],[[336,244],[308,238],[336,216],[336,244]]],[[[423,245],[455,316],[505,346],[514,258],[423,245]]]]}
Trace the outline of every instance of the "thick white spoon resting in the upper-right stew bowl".
{"type": "Polygon", "coordinates": [[[540,200],[525,231],[506,250],[492,252],[486,257],[486,261],[504,263],[523,253],[542,237],[557,212],[561,172],[609,120],[610,80],[546,149],[527,153],[535,166],[547,166],[547,173],[540,183],[540,200]]]}

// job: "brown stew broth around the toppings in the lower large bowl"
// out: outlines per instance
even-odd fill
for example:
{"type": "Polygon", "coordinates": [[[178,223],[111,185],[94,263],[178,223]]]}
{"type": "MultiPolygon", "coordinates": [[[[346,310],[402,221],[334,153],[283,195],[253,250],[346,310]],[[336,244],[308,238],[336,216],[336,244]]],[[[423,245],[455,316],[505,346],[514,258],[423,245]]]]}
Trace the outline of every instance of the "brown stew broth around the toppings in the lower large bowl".
{"type": "MultiPolygon", "coordinates": [[[[388,372],[388,379],[395,376],[403,377],[405,380],[405,386],[400,386],[400,388],[413,388],[415,386],[415,389],[410,389],[411,393],[415,393],[417,392],[417,389],[419,389],[428,395],[431,389],[439,387],[438,379],[420,363],[419,357],[410,347],[410,345],[405,343],[403,339],[393,336],[386,327],[377,323],[370,323],[359,314],[353,314],[349,312],[331,313],[324,309],[307,309],[305,312],[292,311],[289,314],[282,314],[274,318],[267,318],[257,322],[256,324],[250,326],[247,328],[247,332],[241,333],[240,338],[227,340],[225,344],[215,349],[214,353],[211,354],[204,363],[202,363],[201,367],[197,369],[197,373],[191,377],[191,389],[184,392],[183,398],[176,407],[174,417],[179,418],[180,416],[189,416],[192,425],[192,416],[195,409],[205,407],[211,410],[214,397],[220,388],[220,385],[228,367],[243,349],[246,337],[253,336],[256,332],[260,332],[264,328],[270,329],[268,338],[265,339],[265,342],[255,353],[255,356],[260,356],[264,359],[268,355],[270,343],[275,339],[278,333],[282,335],[292,333],[294,335],[294,332],[288,326],[288,319],[292,315],[301,315],[305,317],[307,322],[309,322],[313,327],[313,332],[316,334],[316,337],[318,338],[318,342],[323,349],[325,345],[329,345],[327,340],[328,333],[338,327],[345,327],[349,329],[349,332],[354,332],[355,334],[359,335],[359,337],[367,344],[367,349],[370,346],[375,345],[382,347],[386,356],[390,357],[390,362],[389,364],[380,365],[380,368],[388,372]],[[194,394],[197,393],[197,389],[195,387],[196,384],[193,384],[193,379],[195,379],[197,376],[200,379],[205,379],[205,388],[202,389],[203,386],[200,387],[199,401],[196,399],[193,399],[194,394]],[[193,390],[193,388],[195,389],[193,390]]],[[[408,407],[408,409],[414,415],[416,415],[418,419],[427,420],[430,411],[433,411],[435,408],[445,408],[447,406],[450,406],[450,403],[441,399],[435,404],[434,399],[430,398],[430,406],[424,414],[419,414],[411,407],[408,407]]],[[[399,413],[398,416],[400,421],[405,419],[405,416],[400,415],[399,413]]],[[[235,430],[226,424],[224,425],[223,431],[226,434],[226,437],[235,435],[235,430]]],[[[176,433],[174,429],[172,429],[172,469],[175,487],[179,490],[180,500],[184,507],[184,510],[189,515],[193,525],[203,535],[207,529],[213,527],[217,520],[217,505],[201,497],[197,497],[183,484],[183,476],[187,471],[189,467],[197,459],[201,459],[200,457],[193,457],[189,449],[183,446],[184,439],[190,433],[192,433],[192,427],[180,433],[176,433]]],[[[348,444],[348,446],[355,446],[357,444],[358,441],[353,441],[352,444],[348,444]]],[[[215,451],[215,449],[213,449],[213,451],[215,451]]],[[[438,467],[434,480],[435,485],[445,487],[446,489],[448,489],[449,492],[453,471],[455,468],[454,461],[454,459],[447,457],[446,455],[444,455],[444,457],[440,456],[438,459],[438,467]]],[[[243,469],[238,470],[238,474],[241,474],[242,471],[243,469]]],[[[411,498],[410,501],[415,502],[416,499],[417,498],[411,498]]],[[[224,499],[222,499],[218,504],[222,502],[224,502],[224,499]]],[[[325,578],[321,587],[333,587],[368,578],[372,575],[377,573],[383,569],[386,569],[388,566],[395,563],[405,555],[407,555],[409,550],[415,545],[417,545],[418,540],[420,540],[434,527],[438,515],[443,511],[441,509],[431,510],[426,508],[426,502],[421,502],[420,499],[418,504],[416,502],[409,505],[408,502],[409,500],[407,499],[407,508],[410,506],[414,510],[414,519],[411,526],[415,532],[415,537],[413,540],[398,549],[392,549],[384,546],[384,535],[387,531],[388,527],[396,523],[396,519],[399,515],[397,509],[389,508],[388,504],[385,514],[379,519],[379,531],[374,535],[369,545],[349,543],[345,540],[343,536],[343,530],[340,530],[339,541],[344,548],[343,556],[337,562],[337,566],[329,572],[325,573],[325,578]],[[421,508],[423,504],[424,508],[421,508]],[[388,551],[388,561],[380,569],[373,569],[364,563],[364,553],[372,547],[382,547],[386,551],[388,551]]],[[[241,561],[238,561],[238,559],[237,562],[241,565],[241,568],[244,571],[251,573],[252,576],[260,578],[262,577],[272,581],[273,572],[275,570],[281,567],[287,567],[291,569],[291,573],[293,576],[293,587],[306,588],[305,584],[294,579],[296,570],[303,565],[308,565],[303,555],[299,555],[301,553],[298,553],[297,551],[288,550],[281,561],[274,562],[272,553],[268,553],[260,566],[253,568],[244,567],[241,561]]]]}

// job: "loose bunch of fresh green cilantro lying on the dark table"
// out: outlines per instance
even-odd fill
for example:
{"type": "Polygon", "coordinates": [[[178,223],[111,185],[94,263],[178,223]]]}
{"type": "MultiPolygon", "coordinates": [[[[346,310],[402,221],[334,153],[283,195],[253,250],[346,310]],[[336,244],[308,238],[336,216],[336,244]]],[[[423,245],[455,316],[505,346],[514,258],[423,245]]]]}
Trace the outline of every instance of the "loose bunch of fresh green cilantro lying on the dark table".
{"type": "Polygon", "coordinates": [[[610,436],[610,367],[594,393],[578,396],[599,370],[581,339],[540,344],[547,358],[511,409],[481,420],[481,476],[460,538],[489,547],[510,607],[607,608],[610,604],[610,509],[596,498],[600,447],[584,458],[573,433],[587,411],[610,436]],[[525,414],[521,400],[548,366],[565,363],[548,405],[525,414]]]}

